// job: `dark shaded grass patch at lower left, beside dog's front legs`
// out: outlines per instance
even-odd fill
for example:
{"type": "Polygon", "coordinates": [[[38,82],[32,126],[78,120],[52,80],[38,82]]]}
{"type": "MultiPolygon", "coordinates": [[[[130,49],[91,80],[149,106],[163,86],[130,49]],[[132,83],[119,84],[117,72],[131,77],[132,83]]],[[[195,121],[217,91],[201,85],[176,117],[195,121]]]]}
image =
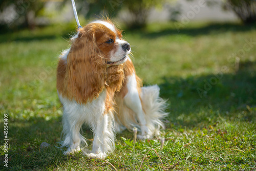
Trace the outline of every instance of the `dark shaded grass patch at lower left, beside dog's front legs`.
{"type": "MultiPolygon", "coordinates": [[[[61,132],[61,120],[33,118],[31,120],[9,121],[8,168],[6,170],[38,170],[56,164],[63,159],[56,145],[61,132]],[[41,142],[52,144],[40,149],[41,142]]],[[[3,156],[1,156],[1,160],[3,156]]]]}

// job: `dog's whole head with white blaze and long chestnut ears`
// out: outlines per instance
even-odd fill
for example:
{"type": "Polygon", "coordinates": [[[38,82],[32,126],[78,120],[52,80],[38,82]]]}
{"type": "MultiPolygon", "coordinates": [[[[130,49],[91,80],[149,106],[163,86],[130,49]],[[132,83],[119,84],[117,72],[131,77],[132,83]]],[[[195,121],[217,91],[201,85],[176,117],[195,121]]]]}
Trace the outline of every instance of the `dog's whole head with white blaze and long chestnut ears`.
{"type": "Polygon", "coordinates": [[[120,67],[130,52],[130,44],[109,20],[80,28],[67,56],[68,97],[83,103],[97,98],[106,85],[118,91],[123,80],[120,67]]]}

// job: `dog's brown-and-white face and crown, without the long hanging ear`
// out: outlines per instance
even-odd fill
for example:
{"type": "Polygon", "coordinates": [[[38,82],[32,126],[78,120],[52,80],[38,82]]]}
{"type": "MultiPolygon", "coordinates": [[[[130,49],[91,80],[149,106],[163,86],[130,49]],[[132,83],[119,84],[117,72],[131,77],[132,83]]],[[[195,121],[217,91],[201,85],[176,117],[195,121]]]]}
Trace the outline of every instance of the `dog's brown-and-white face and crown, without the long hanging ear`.
{"type": "Polygon", "coordinates": [[[99,56],[105,59],[105,64],[119,65],[127,60],[130,54],[130,44],[122,39],[121,31],[110,20],[96,20],[80,28],[73,44],[82,44],[88,53],[89,48],[96,50],[99,56]]]}

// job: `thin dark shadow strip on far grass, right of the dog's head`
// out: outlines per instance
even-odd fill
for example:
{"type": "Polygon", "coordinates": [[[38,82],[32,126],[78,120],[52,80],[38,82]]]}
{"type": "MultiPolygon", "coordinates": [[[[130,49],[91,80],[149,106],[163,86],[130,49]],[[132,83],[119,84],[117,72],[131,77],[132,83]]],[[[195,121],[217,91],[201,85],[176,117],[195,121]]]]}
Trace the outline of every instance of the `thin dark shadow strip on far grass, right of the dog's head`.
{"type": "Polygon", "coordinates": [[[166,35],[174,35],[174,34],[183,34],[189,36],[199,36],[199,35],[207,35],[207,34],[220,34],[225,32],[247,32],[250,30],[255,30],[256,25],[239,25],[239,24],[209,24],[204,27],[195,27],[195,28],[188,28],[184,26],[184,28],[177,28],[174,26],[171,29],[163,29],[158,32],[141,32],[141,34],[146,38],[157,38],[166,35]]]}

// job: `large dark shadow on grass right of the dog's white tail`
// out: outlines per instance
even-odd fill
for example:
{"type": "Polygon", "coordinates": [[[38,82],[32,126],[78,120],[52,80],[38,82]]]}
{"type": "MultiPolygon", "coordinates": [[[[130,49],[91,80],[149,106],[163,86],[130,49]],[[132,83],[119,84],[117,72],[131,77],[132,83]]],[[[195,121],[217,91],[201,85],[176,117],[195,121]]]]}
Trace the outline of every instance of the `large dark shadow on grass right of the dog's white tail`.
{"type": "Polygon", "coordinates": [[[169,99],[169,121],[181,127],[215,124],[218,117],[254,122],[256,62],[240,63],[234,74],[164,77],[161,97],[169,99]]]}

